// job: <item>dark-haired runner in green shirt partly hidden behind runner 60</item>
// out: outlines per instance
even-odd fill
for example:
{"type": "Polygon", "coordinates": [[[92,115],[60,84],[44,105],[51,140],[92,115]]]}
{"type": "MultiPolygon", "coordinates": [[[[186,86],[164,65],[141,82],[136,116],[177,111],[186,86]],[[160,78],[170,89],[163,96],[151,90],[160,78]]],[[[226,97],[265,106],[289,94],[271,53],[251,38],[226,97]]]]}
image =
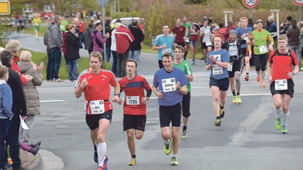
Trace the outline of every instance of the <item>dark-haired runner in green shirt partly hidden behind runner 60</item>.
{"type": "Polygon", "coordinates": [[[190,90],[191,90],[191,85],[190,82],[194,80],[194,77],[192,75],[192,68],[188,64],[187,61],[183,60],[184,55],[184,48],[181,45],[177,45],[175,48],[175,56],[176,59],[174,61],[173,66],[180,68],[181,70],[184,71],[186,78],[188,80],[187,86],[187,94],[183,95],[183,100],[182,100],[182,115],[183,115],[183,133],[181,138],[186,139],[187,138],[187,123],[188,123],[188,118],[190,116],[190,90]]]}

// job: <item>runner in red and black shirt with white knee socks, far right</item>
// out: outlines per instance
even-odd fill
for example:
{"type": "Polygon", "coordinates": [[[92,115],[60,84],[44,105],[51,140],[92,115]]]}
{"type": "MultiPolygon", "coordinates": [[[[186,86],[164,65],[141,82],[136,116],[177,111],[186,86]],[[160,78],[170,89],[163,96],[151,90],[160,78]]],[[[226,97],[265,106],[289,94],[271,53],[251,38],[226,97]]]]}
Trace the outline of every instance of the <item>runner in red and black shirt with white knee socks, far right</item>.
{"type": "Polygon", "coordinates": [[[282,34],[278,37],[278,49],[272,51],[269,55],[269,64],[267,67],[270,92],[273,95],[273,102],[277,113],[275,122],[277,130],[281,129],[281,111],[283,110],[281,133],[288,133],[289,102],[293,97],[293,87],[295,86],[292,77],[299,72],[296,54],[287,49],[286,46],[287,37],[285,34],[282,34]]]}

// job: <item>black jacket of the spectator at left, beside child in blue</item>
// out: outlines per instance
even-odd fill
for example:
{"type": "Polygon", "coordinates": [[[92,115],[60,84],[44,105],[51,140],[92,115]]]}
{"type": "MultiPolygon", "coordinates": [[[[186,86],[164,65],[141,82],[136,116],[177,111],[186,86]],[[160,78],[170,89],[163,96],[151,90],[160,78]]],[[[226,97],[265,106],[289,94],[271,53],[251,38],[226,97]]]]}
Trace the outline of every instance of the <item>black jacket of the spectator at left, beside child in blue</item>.
{"type": "Polygon", "coordinates": [[[12,65],[10,63],[2,63],[2,65],[5,65],[8,68],[9,78],[6,83],[10,85],[10,88],[12,89],[12,95],[13,95],[12,112],[14,113],[14,116],[19,117],[20,111],[22,116],[27,116],[26,98],[23,91],[23,85],[21,82],[20,75],[16,71],[11,69],[12,65]]]}

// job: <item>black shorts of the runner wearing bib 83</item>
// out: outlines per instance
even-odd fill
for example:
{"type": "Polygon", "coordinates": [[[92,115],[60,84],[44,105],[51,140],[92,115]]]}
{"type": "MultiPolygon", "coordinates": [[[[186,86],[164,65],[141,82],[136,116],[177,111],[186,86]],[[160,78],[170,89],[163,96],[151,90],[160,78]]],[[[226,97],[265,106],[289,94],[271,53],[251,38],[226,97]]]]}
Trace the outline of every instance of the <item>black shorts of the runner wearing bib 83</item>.
{"type": "Polygon", "coordinates": [[[96,128],[99,127],[99,120],[107,119],[111,122],[112,114],[113,114],[113,110],[108,110],[103,114],[86,114],[85,116],[86,124],[91,130],[95,130],[96,128]]]}

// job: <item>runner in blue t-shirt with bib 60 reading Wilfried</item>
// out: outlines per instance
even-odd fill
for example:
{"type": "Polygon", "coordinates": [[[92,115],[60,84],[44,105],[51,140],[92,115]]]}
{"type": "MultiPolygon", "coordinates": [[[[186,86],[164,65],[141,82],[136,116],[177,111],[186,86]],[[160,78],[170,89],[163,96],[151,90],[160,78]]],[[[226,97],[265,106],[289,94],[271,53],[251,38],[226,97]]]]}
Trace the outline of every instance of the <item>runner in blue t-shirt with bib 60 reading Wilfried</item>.
{"type": "Polygon", "coordinates": [[[164,68],[156,71],[152,91],[158,97],[160,126],[164,139],[164,153],[172,154],[171,165],[179,165],[177,152],[180,145],[179,128],[181,122],[181,104],[187,94],[187,78],[183,70],[173,67],[174,56],[170,52],[162,55],[164,68]],[[158,89],[159,88],[159,91],[158,89]],[[172,135],[169,124],[172,122],[172,135]],[[172,145],[171,145],[172,141],[172,145]]]}

